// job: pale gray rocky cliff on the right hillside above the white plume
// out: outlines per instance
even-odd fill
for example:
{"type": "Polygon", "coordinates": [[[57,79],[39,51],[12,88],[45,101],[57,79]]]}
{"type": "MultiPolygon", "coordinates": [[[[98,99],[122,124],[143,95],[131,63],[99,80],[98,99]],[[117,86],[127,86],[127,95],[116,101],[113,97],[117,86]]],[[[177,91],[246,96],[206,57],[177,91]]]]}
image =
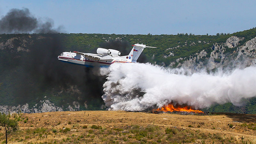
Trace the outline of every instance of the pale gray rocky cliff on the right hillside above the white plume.
{"type": "Polygon", "coordinates": [[[237,64],[243,64],[244,66],[255,64],[256,37],[241,46],[237,46],[242,40],[244,40],[244,37],[231,36],[225,43],[214,43],[211,47],[210,57],[207,57],[208,53],[202,50],[190,55],[187,60],[179,63],[178,66],[197,70],[202,68],[211,70],[230,65],[235,67],[237,64]]]}

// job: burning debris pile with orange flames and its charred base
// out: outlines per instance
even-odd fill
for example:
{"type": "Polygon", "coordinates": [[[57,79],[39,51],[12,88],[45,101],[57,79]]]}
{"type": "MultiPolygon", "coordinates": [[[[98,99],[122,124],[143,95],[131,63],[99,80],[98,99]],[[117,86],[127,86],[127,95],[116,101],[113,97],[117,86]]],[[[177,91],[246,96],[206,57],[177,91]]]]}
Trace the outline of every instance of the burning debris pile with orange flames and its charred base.
{"type": "Polygon", "coordinates": [[[152,110],[154,114],[169,113],[169,114],[180,114],[180,115],[206,115],[201,110],[195,110],[190,106],[182,106],[178,104],[169,103],[161,108],[152,110]]]}

